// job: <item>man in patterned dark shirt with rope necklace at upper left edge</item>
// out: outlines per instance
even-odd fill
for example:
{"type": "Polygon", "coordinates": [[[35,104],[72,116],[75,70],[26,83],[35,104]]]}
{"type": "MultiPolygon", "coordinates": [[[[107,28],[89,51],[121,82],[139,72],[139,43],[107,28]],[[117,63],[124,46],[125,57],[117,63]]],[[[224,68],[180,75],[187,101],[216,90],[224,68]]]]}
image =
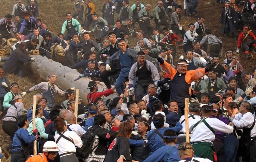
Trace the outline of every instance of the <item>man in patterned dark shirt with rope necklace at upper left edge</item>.
{"type": "MultiPolygon", "coordinates": [[[[5,18],[0,19],[0,48],[2,48],[3,38],[12,38],[11,29],[13,33],[16,32],[16,26],[12,21],[12,15],[7,14],[5,15],[5,18]]],[[[3,46],[6,44],[7,43],[5,42],[3,46]]]]}

